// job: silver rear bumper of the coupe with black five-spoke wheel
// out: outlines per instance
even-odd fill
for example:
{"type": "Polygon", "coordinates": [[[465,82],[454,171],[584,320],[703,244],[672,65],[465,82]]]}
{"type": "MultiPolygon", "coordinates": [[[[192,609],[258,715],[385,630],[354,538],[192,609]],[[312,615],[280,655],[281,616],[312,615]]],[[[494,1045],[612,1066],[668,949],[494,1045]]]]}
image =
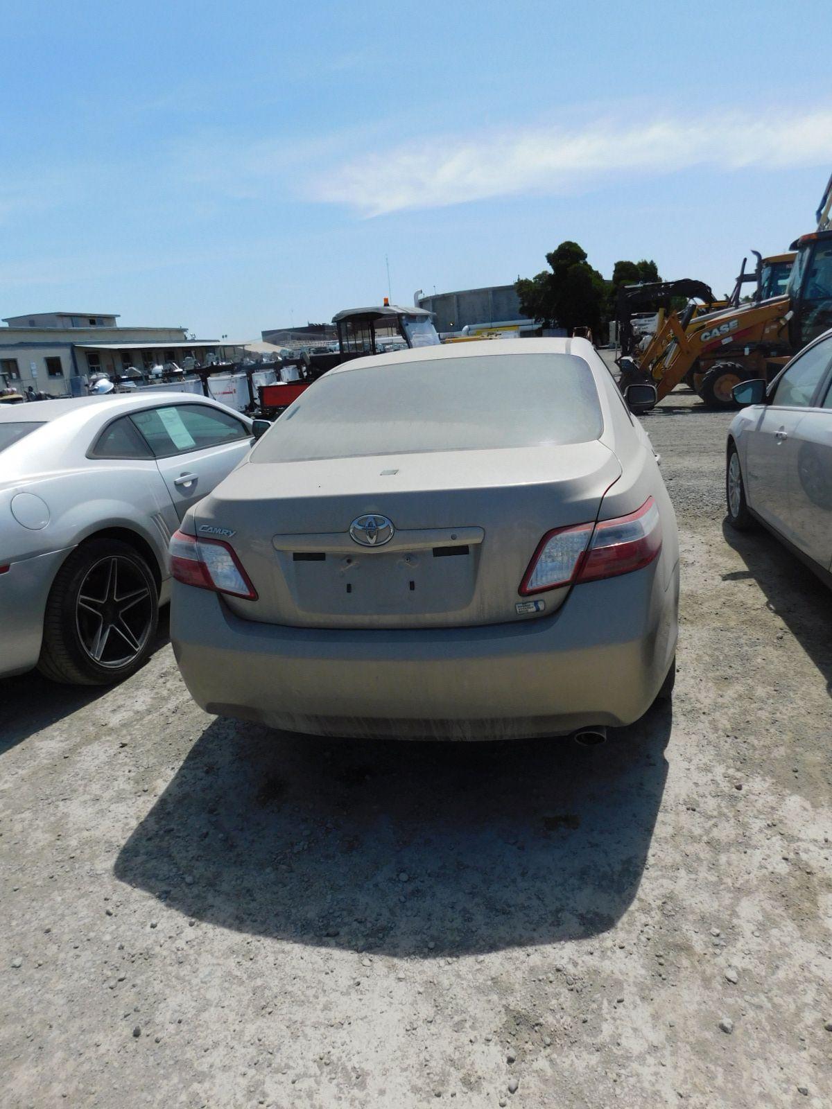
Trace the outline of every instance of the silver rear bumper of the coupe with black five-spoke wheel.
{"type": "Polygon", "coordinates": [[[71,550],[20,559],[0,573],[0,678],[37,665],[49,590],[71,550]]]}

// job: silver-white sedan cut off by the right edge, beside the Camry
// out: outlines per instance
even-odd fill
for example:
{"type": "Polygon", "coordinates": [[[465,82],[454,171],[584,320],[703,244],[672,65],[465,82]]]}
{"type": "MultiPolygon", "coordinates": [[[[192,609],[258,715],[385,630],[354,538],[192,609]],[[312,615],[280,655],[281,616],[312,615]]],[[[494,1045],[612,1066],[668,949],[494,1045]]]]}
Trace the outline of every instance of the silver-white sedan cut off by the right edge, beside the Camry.
{"type": "Polygon", "coordinates": [[[733,396],[745,407],[728,433],[730,523],[759,520],[832,586],[832,332],[733,396]]]}

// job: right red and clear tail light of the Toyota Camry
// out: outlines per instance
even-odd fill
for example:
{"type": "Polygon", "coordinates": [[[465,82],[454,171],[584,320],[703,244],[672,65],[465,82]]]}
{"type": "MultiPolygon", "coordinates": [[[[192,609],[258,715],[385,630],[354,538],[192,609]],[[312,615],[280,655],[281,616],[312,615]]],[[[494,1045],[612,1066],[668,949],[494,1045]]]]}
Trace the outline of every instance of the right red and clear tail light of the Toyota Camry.
{"type": "Polygon", "coordinates": [[[631,573],[649,566],[660,550],[659,509],[648,497],[628,516],[547,532],[518,592],[527,597],[560,586],[631,573]]]}

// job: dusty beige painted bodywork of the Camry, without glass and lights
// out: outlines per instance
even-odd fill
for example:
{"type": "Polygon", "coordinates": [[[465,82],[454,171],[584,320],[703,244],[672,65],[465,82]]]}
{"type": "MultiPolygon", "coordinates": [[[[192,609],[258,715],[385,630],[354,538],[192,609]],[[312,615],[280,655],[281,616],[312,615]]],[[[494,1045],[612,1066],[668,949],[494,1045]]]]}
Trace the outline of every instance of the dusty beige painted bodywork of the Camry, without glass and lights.
{"type": "MultiPolygon", "coordinates": [[[[172,640],[196,701],[345,735],[503,737],[636,720],[676,648],[676,521],[649,438],[590,344],[505,342],[500,352],[510,365],[567,344],[598,387],[592,441],[285,462],[257,462],[255,448],[183,525],[236,531],[257,594],[174,582],[172,640]],[[547,590],[541,607],[518,603],[541,536],[631,513],[650,497],[662,528],[653,562],[547,590]],[[362,513],[395,525],[381,549],[349,536],[362,513]],[[449,556],[453,545],[464,553],[449,556]]],[[[454,354],[476,358],[477,344],[454,354]]],[[[389,373],[432,357],[448,355],[390,355],[389,373]]],[[[362,362],[334,373],[359,373],[362,362]]]]}

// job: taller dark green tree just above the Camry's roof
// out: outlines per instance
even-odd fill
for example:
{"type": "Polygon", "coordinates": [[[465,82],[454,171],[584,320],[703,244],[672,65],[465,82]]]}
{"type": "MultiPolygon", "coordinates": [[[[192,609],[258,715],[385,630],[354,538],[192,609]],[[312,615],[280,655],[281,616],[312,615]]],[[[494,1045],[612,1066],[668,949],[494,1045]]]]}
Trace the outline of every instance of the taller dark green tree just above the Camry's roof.
{"type": "Polygon", "coordinates": [[[591,327],[593,335],[600,335],[609,284],[589,265],[587,252],[567,240],[546,261],[551,272],[544,269],[515,283],[520,312],[544,327],[564,327],[568,335],[576,327],[591,327]]]}

